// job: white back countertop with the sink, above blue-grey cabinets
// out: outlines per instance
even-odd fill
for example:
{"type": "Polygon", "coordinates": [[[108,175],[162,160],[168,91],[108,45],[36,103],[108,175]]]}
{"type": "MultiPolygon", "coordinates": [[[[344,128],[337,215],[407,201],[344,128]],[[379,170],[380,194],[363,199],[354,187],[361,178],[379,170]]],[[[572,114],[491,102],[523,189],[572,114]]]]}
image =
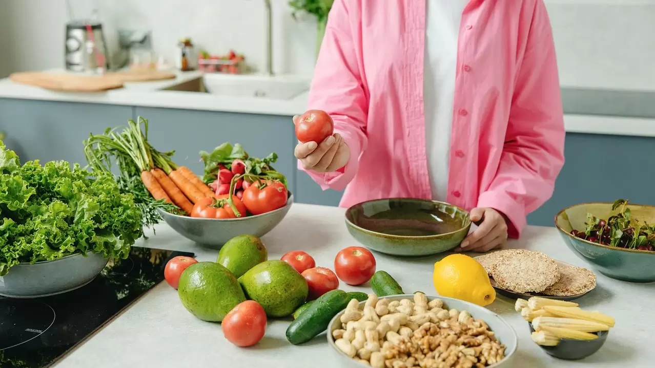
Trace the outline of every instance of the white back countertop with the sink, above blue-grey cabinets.
{"type": "MultiPolygon", "coordinates": [[[[211,93],[163,90],[199,78],[197,71],[176,72],[174,80],[126,83],[125,88],[98,93],[54,92],[35,86],[0,79],[0,98],[101,103],[138,107],[160,107],[206,111],[238,112],[293,116],[307,109],[308,92],[288,100],[266,97],[229,97],[211,93]]],[[[655,137],[655,118],[565,114],[565,129],[570,133],[632,135],[655,137]]]]}

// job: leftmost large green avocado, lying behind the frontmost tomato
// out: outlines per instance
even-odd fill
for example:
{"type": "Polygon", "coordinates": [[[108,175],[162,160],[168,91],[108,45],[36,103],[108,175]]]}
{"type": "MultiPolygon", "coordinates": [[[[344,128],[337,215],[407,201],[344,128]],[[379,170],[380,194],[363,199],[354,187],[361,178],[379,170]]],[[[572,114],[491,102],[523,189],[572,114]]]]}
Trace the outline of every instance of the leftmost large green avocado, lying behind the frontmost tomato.
{"type": "Polygon", "coordinates": [[[190,265],[179,277],[179,300],[197,318],[221,322],[246,295],[236,277],[214,262],[190,265]]]}

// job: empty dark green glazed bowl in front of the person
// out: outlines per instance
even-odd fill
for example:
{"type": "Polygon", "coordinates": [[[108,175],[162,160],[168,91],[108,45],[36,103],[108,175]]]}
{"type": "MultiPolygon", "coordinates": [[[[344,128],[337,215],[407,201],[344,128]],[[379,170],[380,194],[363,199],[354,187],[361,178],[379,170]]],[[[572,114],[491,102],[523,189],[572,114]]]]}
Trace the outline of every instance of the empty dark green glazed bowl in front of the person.
{"type": "Polygon", "coordinates": [[[391,198],[346,210],[348,232],[365,247],[393,256],[429,256],[458,246],[468,234],[466,210],[426,199],[391,198]]]}

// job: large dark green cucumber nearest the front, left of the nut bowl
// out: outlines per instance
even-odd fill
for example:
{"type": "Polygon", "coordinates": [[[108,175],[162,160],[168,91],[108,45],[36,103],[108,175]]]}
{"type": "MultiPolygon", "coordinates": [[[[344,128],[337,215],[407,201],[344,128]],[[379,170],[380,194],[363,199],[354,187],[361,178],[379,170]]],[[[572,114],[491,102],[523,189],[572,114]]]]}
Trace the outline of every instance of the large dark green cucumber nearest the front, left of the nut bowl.
{"type": "Polygon", "coordinates": [[[343,290],[330,290],[311,303],[286,331],[287,340],[294,345],[307,343],[327,329],[330,320],[344,310],[350,298],[343,290]]]}

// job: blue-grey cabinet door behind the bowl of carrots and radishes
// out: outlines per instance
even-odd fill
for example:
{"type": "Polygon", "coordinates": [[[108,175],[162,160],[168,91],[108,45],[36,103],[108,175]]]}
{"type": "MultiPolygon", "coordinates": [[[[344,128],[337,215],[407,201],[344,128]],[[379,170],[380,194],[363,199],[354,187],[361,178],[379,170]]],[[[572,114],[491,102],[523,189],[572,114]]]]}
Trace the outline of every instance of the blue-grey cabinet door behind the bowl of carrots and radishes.
{"type": "Polygon", "coordinates": [[[238,114],[181,109],[136,107],[136,116],[149,122],[148,140],[162,151],[175,150],[173,159],[203,175],[200,151],[212,152],[223,142],[240,143],[250,156],[264,158],[275,152],[273,167],[287,176],[295,193],[293,124],[286,116],[238,114]]]}

